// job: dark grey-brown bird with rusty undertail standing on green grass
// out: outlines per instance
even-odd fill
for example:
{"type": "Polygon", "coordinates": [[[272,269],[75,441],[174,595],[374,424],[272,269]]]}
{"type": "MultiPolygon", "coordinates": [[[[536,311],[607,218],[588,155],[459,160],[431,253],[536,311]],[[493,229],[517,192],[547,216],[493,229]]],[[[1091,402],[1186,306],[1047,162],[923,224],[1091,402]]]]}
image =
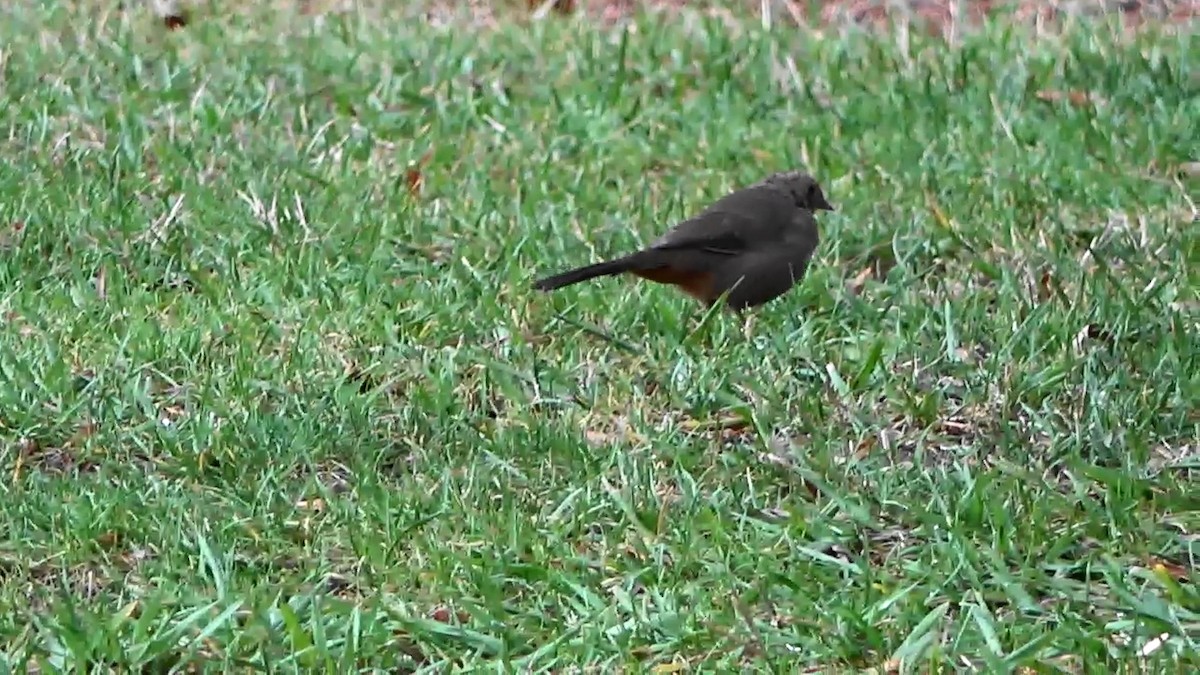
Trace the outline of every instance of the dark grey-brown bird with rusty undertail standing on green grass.
{"type": "Polygon", "coordinates": [[[722,197],[648,249],[547,276],[533,287],[553,291],[629,273],[678,286],[709,306],[727,292],[726,306],[740,311],[782,295],[804,276],[818,241],[816,210],[833,210],[816,179],[798,171],[776,173],[722,197]]]}

